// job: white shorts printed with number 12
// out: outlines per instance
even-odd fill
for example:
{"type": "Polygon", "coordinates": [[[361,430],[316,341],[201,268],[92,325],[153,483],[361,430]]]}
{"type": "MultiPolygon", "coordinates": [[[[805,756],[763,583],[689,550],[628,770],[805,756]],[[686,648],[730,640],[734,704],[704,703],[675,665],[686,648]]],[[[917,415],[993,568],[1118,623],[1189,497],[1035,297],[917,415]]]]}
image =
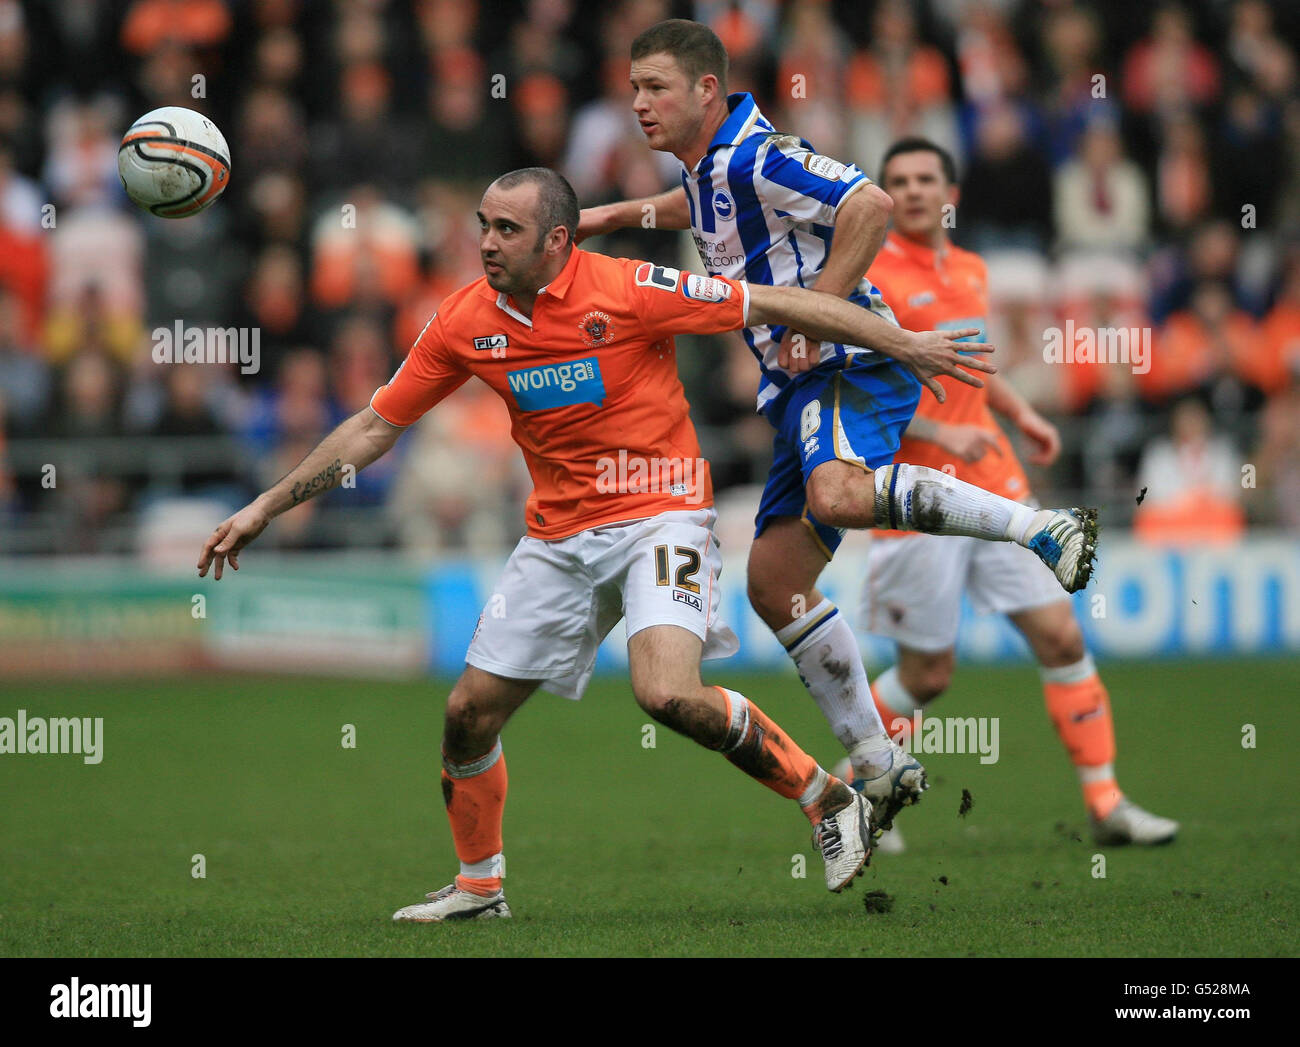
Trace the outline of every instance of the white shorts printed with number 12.
{"type": "Polygon", "coordinates": [[[620,618],[696,633],[705,658],[740,649],[718,618],[722,554],[712,509],[593,527],[559,541],[523,537],[488,600],[465,661],[581,698],[595,652],[620,618]]]}

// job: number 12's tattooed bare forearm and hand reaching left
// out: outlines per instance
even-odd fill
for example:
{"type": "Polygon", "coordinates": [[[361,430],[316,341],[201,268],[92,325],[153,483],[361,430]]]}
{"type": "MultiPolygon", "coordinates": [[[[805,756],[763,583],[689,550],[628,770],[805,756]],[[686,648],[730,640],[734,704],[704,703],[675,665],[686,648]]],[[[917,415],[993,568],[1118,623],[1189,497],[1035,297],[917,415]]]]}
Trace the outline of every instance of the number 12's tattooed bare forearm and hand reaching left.
{"type": "Polygon", "coordinates": [[[221,579],[225,561],[239,570],[239,551],[286,509],[338,486],[347,468],[364,470],[381,458],[403,431],[381,419],[369,406],[339,424],[313,451],[269,490],[264,490],[234,516],[222,520],[208,536],[199,554],[199,577],[207,577],[216,561],[213,579],[221,579]]]}

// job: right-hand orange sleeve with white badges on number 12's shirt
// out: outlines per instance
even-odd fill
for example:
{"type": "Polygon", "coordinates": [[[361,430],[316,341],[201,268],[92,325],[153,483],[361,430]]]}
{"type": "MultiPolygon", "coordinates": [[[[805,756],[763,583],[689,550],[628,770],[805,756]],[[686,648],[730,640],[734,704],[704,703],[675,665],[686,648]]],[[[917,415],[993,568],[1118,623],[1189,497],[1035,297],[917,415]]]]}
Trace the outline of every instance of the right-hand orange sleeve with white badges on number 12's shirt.
{"type": "Polygon", "coordinates": [[[642,261],[629,269],[630,297],[649,341],[672,334],[740,330],[749,315],[749,287],[722,276],[697,276],[642,261]]]}

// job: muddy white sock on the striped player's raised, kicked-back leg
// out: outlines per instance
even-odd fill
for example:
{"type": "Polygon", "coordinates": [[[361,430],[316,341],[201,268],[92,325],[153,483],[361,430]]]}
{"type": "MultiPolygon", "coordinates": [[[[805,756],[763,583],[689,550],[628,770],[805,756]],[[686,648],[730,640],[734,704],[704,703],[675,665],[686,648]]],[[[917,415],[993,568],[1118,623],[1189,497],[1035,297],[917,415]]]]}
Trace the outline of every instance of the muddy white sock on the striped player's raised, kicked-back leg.
{"type": "Polygon", "coordinates": [[[1037,510],[941,470],[902,462],[876,470],[876,527],[989,541],[1028,538],[1037,510]]]}

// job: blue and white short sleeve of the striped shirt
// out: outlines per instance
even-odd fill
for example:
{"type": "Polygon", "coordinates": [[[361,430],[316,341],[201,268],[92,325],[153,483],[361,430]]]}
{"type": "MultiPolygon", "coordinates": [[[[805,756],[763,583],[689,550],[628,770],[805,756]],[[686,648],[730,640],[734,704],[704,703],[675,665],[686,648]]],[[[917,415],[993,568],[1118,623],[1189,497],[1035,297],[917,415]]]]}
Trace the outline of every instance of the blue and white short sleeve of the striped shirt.
{"type": "Polygon", "coordinates": [[[754,185],[764,211],[784,211],[798,222],[835,225],[840,204],[871,185],[855,164],[814,152],[788,134],[768,137],[758,147],[754,164],[754,185]]]}

